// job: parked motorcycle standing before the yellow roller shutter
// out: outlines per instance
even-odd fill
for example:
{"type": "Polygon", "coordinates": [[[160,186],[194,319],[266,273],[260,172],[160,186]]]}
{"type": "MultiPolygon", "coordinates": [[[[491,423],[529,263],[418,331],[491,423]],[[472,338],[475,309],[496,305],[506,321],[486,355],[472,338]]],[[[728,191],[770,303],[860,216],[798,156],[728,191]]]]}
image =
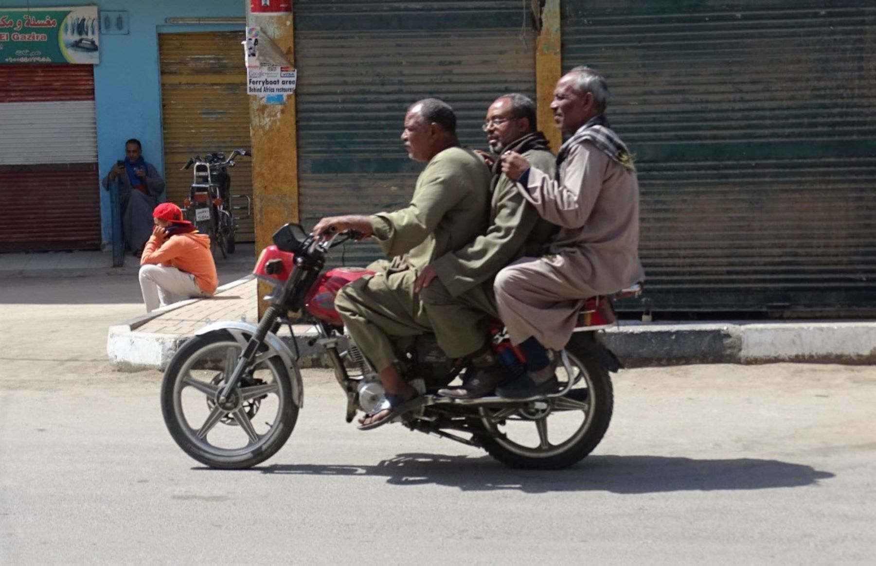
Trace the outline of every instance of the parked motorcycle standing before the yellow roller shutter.
{"type": "Polygon", "coordinates": [[[221,152],[208,153],[189,158],[180,170],[194,166],[194,180],[188,198],[183,201],[186,219],[194,223],[201,234],[210,237],[210,249],[215,255],[219,250],[223,258],[234,253],[236,248],[237,216],[235,211],[243,209],[234,206],[232,199],[246,199],[246,217],[251,215],[251,199],[246,195],[231,195],[231,177],[228,168],[235,166],[237,157],[252,156],[252,152],[236,149],[228,159],[221,152]]]}

